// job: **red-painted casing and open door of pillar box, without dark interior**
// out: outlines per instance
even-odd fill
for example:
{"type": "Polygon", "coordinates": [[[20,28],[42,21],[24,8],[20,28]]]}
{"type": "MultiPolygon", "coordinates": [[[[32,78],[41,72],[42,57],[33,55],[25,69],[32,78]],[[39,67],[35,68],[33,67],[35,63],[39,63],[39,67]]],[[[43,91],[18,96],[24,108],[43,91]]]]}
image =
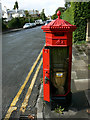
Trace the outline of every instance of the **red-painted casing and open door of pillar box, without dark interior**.
{"type": "Polygon", "coordinates": [[[46,44],[43,48],[43,89],[44,100],[50,102],[50,47],[69,47],[69,67],[68,67],[68,90],[66,96],[71,91],[71,64],[72,64],[72,32],[76,29],[75,25],[60,19],[61,12],[57,12],[58,18],[47,25],[41,27],[45,32],[46,44]],[[47,46],[49,46],[48,49],[47,46]],[[45,83],[45,77],[47,83],[45,83]]]}

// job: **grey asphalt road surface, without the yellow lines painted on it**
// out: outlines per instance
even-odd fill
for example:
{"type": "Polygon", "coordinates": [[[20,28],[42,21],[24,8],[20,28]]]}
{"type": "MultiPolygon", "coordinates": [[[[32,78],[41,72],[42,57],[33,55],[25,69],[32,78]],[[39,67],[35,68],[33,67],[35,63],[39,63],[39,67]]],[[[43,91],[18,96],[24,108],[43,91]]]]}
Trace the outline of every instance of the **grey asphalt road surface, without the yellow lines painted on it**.
{"type": "MultiPolygon", "coordinates": [[[[24,83],[28,72],[35,62],[38,54],[45,43],[45,35],[41,26],[23,31],[3,34],[2,36],[2,115],[5,117],[7,110],[24,83]]],[[[42,66],[41,66],[42,68],[42,66]]],[[[34,73],[33,73],[34,74],[34,73]]],[[[16,104],[17,111],[11,117],[17,117],[21,113],[19,109],[24,100],[26,91],[31,83],[33,75],[26,84],[16,104]]],[[[35,113],[35,102],[37,99],[42,70],[36,79],[34,89],[29,99],[25,114],[35,113]],[[31,112],[31,113],[30,113],[31,112]]]]}

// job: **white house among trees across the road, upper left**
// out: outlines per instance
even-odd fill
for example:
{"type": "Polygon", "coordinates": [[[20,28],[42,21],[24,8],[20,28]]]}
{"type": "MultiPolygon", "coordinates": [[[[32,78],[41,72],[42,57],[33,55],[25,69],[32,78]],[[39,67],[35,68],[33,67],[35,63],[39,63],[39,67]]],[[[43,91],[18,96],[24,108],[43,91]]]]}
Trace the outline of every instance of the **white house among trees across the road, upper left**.
{"type": "Polygon", "coordinates": [[[9,10],[5,7],[5,10],[3,11],[3,18],[6,18],[6,21],[11,20],[12,18],[16,17],[25,17],[24,10],[9,10]]]}

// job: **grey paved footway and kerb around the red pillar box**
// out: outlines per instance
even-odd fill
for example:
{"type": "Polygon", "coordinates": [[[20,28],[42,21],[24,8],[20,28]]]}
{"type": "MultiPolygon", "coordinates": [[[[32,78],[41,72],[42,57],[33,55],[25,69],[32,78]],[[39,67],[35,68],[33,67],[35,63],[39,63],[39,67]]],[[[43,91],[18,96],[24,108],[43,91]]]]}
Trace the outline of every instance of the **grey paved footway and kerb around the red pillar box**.
{"type": "Polygon", "coordinates": [[[36,104],[37,120],[40,118],[44,120],[60,120],[60,118],[62,120],[90,120],[90,112],[87,112],[87,110],[90,110],[90,70],[88,68],[88,64],[90,64],[90,43],[84,45],[84,47],[73,45],[72,53],[72,102],[70,106],[63,111],[63,114],[57,113],[55,110],[51,110],[51,103],[43,100],[43,85],[41,84],[41,89],[36,104]]]}

